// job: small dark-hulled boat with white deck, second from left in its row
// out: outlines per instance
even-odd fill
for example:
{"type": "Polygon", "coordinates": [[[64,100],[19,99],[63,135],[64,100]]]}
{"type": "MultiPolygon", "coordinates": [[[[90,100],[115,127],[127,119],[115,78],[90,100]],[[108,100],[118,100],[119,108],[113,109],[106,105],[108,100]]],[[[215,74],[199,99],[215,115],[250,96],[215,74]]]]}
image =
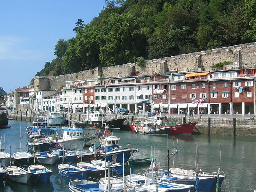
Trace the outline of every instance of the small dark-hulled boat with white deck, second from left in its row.
{"type": "Polygon", "coordinates": [[[19,151],[13,154],[13,161],[19,165],[32,165],[34,156],[28,151],[19,151]]]}

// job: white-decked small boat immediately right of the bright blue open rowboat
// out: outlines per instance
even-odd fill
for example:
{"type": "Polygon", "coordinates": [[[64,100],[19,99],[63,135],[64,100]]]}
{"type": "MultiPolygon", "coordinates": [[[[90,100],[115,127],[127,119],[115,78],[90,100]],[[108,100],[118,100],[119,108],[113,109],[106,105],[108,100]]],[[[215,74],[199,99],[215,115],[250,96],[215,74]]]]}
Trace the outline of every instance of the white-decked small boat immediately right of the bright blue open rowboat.
{"type": "Polygon", "coordinates": [[[77,167],[79,168],[84,168],[89,170],[90,172],[88,173],[90,177],[103,177],[105,175],[105,167],[98,167],[94,164],[87,163],[87,162],[79,162],[76,164],[77,167]]]}

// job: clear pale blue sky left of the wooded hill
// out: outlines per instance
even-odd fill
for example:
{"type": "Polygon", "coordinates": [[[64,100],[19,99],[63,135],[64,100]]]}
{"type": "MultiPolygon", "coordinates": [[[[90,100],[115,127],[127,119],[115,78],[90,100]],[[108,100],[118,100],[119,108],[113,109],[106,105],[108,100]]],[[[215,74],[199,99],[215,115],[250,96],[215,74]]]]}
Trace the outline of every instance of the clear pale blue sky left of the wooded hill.
{"type": "Polygon", "coordinates": [[[45,62],[51,62],[57,40],[76,36],[78,19],[90,23],[104,0],[1,1],[0,87],[7,93],[27,86],[45,62]]]}

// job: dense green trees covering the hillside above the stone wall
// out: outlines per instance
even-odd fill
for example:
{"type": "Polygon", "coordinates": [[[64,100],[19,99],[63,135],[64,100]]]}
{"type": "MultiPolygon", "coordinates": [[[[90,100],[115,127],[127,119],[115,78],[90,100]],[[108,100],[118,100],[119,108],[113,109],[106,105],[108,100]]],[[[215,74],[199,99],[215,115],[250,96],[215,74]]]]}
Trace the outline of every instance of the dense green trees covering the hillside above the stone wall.
{"type": "Polygon", "coordinates": [[[57,58],[36,75],[256,41],[255,10],[256,0],[106,0],[91,23],[78,19],[75,37],[57,41],[57,58]]]}

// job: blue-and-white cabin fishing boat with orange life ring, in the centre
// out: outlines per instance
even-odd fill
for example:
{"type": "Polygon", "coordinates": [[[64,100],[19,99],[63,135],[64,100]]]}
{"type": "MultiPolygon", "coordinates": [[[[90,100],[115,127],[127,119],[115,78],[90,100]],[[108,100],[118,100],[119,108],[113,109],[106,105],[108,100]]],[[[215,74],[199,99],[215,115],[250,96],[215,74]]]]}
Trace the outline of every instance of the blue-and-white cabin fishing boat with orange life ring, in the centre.
{"type": "Polygon", "coordinates": [[[131,156],[131,153],[138,152],[138,149],[131,148],[131,144],[125,146],[119,146],[120,138],[110,135],[108,126],[105,126],[105,131],[102,135],[101,131],[98,134],[100,145],[91,145],[89,150],[91,153],[100,153],[100,159],[107,158],[107,161],[113,163],[127,163],[131,156]],[[123,161],[124,153],[124,161],[123,161]]]}

